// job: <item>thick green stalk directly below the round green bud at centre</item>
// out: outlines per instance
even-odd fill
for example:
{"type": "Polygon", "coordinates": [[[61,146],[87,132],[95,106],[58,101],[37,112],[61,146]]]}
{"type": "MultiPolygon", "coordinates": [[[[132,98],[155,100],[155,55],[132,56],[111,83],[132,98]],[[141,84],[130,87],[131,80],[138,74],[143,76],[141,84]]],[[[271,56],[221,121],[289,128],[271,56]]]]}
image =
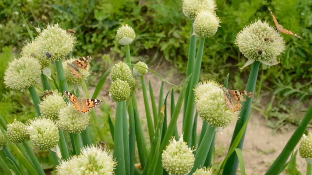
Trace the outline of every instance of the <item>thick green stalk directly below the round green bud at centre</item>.
{"type": "Polygon", "coordinates": [[[123,102],[117,102],[115,117],[114,158],[117,166],[115,174],[126,174],[124,160],[124,137],[123,137],[123,102]]]}

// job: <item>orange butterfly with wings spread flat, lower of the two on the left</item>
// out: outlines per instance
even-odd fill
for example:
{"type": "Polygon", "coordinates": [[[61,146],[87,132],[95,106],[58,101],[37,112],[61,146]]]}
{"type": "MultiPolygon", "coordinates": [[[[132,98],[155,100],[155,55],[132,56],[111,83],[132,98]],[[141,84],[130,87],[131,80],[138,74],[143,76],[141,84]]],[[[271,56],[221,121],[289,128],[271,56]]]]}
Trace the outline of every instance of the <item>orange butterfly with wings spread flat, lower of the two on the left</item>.
{"type": "Polygon", "coordinates": [[[68,98],[69,101],[74,105],[77,111],[85,113],[90,111],[92,108],[96,106],[100,106],[103,104],[102,100],[93,99],[93,98],[78,98],[71,92],[64,91],[64,96],[68,98]]]}

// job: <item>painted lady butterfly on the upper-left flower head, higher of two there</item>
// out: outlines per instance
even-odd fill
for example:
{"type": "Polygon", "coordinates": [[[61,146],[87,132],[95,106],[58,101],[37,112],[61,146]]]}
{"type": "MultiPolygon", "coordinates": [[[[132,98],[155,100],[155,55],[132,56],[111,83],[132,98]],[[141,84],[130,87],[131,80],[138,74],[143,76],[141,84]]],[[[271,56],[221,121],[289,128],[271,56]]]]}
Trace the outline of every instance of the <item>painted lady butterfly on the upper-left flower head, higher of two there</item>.
{"type": "Polygon", "coordinates": [[[76,59],[71,63],[67,63],[69,69],[71,70],[72,76],[74,76],[75,78],[81,78],[81,73],[79,69],[87,69],[87,66],[90,63],[91,59],[91,56],[84,56],[76,59]]]}

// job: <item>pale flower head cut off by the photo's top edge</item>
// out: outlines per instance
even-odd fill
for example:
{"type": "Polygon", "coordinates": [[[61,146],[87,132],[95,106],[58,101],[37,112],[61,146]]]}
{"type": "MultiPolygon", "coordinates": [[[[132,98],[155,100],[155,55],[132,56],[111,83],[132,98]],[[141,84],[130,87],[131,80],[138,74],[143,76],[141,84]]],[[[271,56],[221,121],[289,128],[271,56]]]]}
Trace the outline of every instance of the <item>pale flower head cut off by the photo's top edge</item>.
{"type": "Polygon", "coordinates": [[[215,0],[183,0],[182,10],[186,17],[195,20],[198,12],[203,10],[214,12],[216,6],[215,0]]]}

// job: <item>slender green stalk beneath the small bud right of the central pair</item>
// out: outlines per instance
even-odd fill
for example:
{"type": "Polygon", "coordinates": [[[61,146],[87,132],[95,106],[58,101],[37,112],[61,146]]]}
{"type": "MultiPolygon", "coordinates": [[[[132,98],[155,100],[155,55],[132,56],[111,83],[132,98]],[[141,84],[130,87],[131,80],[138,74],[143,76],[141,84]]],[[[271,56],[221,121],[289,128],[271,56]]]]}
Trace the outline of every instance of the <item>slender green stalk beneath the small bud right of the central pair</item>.
{"type": "Polygon", "coordinates": [[[147,97],[146,84],[145,84],[144,76],[141,77],[141,83],[142,83],[142,92],[143,92],[143,98],[144,98],[147,127],[149,129],[149,141],[152,142],[153,137],[154,137],[154,127],[153,127],[151,111],[149,110],[149,100],[147,97]]]}

